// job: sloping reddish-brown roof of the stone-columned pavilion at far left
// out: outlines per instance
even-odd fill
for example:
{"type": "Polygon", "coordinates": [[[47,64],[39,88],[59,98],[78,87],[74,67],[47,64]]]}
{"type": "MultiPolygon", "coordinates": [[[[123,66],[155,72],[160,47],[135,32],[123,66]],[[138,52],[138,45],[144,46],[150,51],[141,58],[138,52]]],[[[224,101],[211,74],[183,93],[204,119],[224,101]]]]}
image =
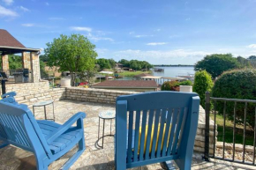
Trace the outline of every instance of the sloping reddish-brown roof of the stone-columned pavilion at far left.
{"type": "Polygon", "coordinates": [[[26,48],[23,44],[17,41],[11,33],[4,29],[0,29],[0,46],[26,48]]]}

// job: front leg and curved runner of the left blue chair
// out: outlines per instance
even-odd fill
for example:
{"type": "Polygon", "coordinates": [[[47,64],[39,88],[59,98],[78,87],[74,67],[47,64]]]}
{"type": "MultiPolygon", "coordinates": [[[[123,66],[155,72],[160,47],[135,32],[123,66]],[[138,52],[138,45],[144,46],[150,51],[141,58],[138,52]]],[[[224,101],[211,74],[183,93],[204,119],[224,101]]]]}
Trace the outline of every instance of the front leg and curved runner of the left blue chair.
{"type": "Polygon", "coordinates": [[[64,166],[62,166],[60,169],[61,170],[66,170],[69,169],[70,166],[72,166],[72,164],[79,159],[79,156],[86,150],[85,147],[85,138],[82,137],[81,140],[79,140],[79,150],[78,152],[76,152],[71,159],[68,159],[68,161],[66,161],[66,163],[64,164],[64,166]]]}

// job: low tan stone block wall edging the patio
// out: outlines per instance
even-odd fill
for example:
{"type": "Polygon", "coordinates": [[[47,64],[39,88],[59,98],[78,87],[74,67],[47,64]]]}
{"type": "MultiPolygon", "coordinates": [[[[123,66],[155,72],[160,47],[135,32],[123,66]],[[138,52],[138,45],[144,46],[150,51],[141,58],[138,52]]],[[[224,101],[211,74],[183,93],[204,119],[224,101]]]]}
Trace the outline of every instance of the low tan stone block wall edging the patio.
{"type": "MultiPolygon", "coordinates": [[[[139,92],[127,91],[112,91],[104,89],[91,89],[79,87],[67,88],[49,88],[48,81],[39,83],[26,84],[8,84],[6,91],[17,92],[16,100],[19,103],[24,103],[28,107],[32,107],[35,102],[43,100],[79,100],[99,103],[115,104],[117,96],[129,95],[139,92]]],[[[217,135],[217,132],[216,132],[217,135]]],[[[213,153],[214,148],[214,122],[210,121],[210,153],[213,153]]],[[[215,138],[216,140],[216,138],[215,138]]],[[[200,118],[197,130],[197,136],[194,145],[194,151],[203,154],[205,147],[205,110],[200,107],[200,118]]]]}

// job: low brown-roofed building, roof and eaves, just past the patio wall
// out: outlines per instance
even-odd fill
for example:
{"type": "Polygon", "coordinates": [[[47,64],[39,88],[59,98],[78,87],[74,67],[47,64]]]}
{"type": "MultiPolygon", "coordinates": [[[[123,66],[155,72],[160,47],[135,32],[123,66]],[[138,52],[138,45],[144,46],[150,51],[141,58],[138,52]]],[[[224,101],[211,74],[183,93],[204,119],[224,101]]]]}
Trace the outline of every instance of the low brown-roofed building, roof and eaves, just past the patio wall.
{"type": "Polygon", "coordinates": [[[157,91],[157,84],[154,80],[106,80],[92,86],[98,89],[133,91],[133,92],[154,92],[157,91]]]}

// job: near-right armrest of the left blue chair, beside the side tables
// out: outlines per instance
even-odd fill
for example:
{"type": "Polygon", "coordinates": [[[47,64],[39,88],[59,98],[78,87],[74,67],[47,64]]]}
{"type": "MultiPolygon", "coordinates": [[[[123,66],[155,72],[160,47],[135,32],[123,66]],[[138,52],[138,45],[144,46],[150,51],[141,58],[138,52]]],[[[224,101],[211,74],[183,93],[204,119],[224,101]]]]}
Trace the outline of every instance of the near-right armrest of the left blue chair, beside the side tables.
{"type": "Polygon", "coordinates": [[[47,137],[47,143],[50,144],[53,142],[57,137],[62,135],[67,129],[72,127],[72,124],[75,122],[77,123],[77,127],[81,128],[80,125],[83,124],[83,119],[86,118],[86,114],[83,112],[79,112],[76,115],[73,115],[67,122],[65,122],[61,127],[50,133],[47,137]]]}

